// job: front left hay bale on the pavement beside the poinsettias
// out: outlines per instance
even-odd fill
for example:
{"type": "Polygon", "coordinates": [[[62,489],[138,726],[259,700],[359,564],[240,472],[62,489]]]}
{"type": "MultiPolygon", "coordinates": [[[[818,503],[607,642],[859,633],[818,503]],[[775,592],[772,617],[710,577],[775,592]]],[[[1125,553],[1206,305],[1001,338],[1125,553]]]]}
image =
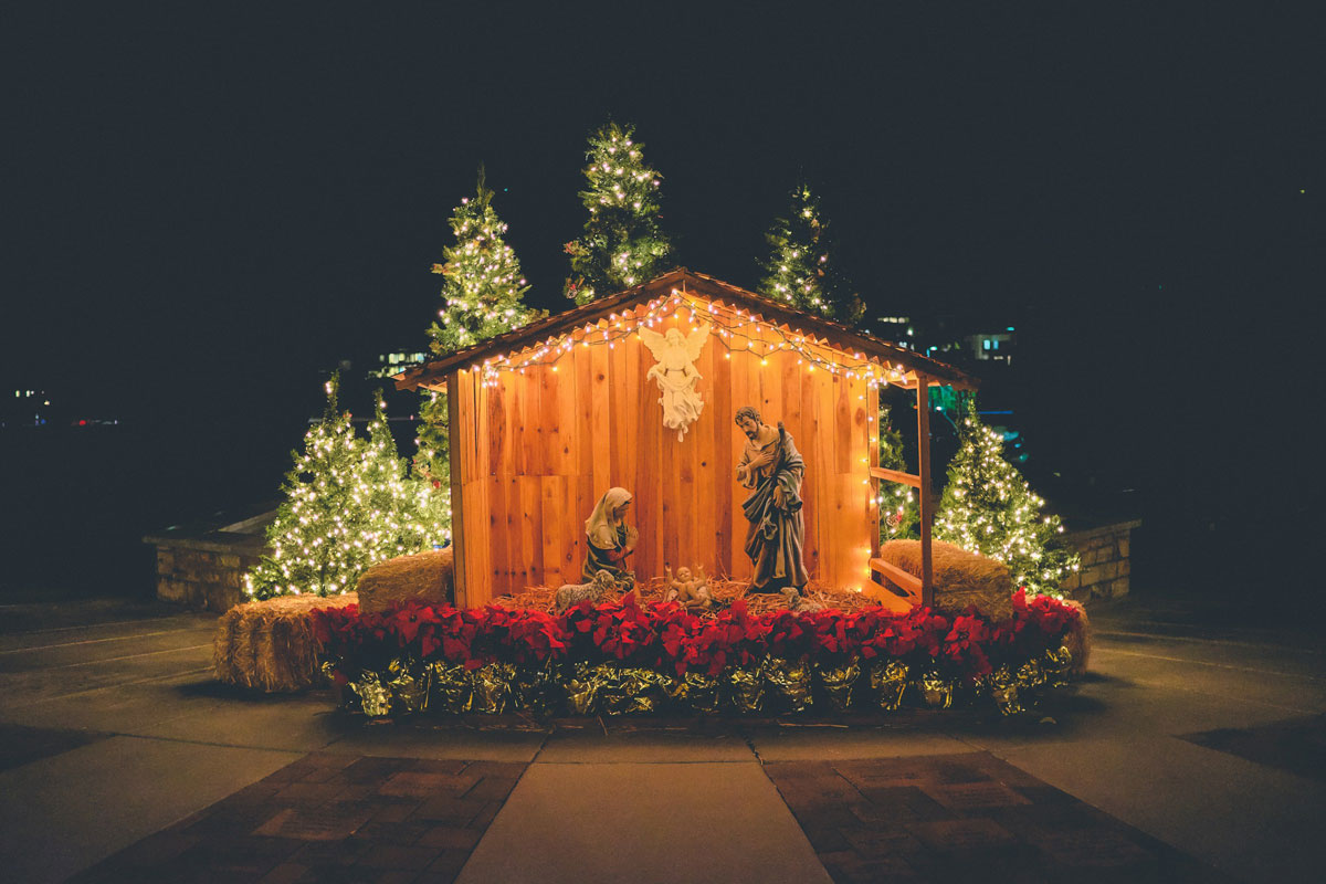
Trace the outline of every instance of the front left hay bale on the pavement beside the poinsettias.
{"type": "Polygon", "coordinates": [[[328,599],[286,595],[236,604],[221,615],[212,637],[216,680],[268,693],[312,688],[321,681],[322,672],[309,615],[357,600],[349,592],[328,599]]]}

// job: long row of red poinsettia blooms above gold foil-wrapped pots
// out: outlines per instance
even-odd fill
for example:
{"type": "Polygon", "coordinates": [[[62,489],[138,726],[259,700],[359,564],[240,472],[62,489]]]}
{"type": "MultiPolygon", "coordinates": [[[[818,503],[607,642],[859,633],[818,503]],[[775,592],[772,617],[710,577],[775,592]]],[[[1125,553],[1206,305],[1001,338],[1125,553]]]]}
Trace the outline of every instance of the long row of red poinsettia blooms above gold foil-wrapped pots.
{"type": "Polygon", "coordinates": [[[314,635],[328,659],[346,672],[381,668],[391,659],[444,660],[475,669],[485,663],[544,665],[557,660],[621,661],[660,671],[719,675],[765,656],[841,665],[898,659],[975,679],[991,667],[1016,664],[1055,648],[1078,612],[1048,596],[1013,598],[1013,616],[992,623],[975,608],[956,618],[914,608],[853,614],[773,611],[752,615],[737,599],[715,616],[696,616],[674,602],[639,606],[583,602],[554,616],[499,606],[456,610],[410,603],[385,614],[357,606],[318,611],[314,635]]]}

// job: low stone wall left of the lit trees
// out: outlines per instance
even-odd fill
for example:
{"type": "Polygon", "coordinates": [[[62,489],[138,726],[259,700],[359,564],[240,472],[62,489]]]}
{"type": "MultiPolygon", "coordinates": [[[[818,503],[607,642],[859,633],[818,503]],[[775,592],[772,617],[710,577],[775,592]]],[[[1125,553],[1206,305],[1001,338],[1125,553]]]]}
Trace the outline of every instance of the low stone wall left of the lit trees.
{"type": "Polygon", "coordinates": [[[170,527],[143,538],[156,547],[156,598],[224,612],[247,602],[244,574],[267,553],[273,513],[221,527],[170,527]]]}

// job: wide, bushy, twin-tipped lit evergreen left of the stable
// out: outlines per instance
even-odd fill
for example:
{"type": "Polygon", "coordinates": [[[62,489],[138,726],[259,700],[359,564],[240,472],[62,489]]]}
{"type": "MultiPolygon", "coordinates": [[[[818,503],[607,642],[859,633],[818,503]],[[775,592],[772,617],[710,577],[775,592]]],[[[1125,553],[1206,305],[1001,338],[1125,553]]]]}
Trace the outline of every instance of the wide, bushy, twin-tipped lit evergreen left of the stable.
{"type": "Polygon", "coordinates": [[[347,592],[370,565],[447,538],[431,489],[406,476],[381,400],[365,440],[339,411],[333,378],[322,420],[293,457],[267,534],[272,555],[244,578],[251,598],[347,592]]]}

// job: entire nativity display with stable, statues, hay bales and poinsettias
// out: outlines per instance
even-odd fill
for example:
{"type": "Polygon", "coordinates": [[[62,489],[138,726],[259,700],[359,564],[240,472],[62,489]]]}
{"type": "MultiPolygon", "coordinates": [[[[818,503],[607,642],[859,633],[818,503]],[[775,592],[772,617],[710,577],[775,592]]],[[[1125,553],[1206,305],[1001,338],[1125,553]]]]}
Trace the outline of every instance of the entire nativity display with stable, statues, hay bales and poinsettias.
{"type": "Polygon", "coordinates": [[[880,543],[882,482],[932,486],[930,388],[973,386],[941,362],[678,269],[396,384],[446,392],[452,543],[239,606],[217,660],[321,661],[370,717],[1014,714],[1085,667],[1081,610],[932,543],[931,494],[880,543]],[[884,386],[918,398],[915,474],[879,465],[884,386]]]}

